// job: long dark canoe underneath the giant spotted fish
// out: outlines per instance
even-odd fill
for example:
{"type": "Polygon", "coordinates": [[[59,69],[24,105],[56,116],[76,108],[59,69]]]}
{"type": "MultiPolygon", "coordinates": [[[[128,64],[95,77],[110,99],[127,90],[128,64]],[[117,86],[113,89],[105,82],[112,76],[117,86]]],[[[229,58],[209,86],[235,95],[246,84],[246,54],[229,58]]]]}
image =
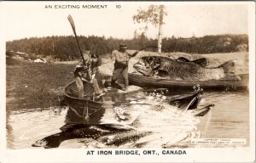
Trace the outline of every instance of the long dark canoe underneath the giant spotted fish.
{"type": "Polygon", "coordinates": [[[168,79],[161,79],[149,76],[143,76],[137,73],[129,73],[129,82],[131,85],[136,85],[139,87],[183,87],[192,88],[196,84],[199,84],[202,88],[211,87],[233,87],[233,88],[244,88],[248,84],[248,75],[240,75],[241,80],[234,81],[229,77],[222,80],[212,80],[212,81],[171,81],[168,79]]]}

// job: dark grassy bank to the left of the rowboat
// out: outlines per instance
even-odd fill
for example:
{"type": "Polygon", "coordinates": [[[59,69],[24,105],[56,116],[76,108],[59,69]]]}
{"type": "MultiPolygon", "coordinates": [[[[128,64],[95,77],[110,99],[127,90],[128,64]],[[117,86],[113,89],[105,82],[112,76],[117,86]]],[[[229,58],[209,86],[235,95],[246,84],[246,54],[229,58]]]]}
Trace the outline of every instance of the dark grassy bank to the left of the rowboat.
{"type": "Polygon", "coordinates": [[[59,104],[63,87],[73,81],[73,65],[7,59],[7,110],[59,104]]]}

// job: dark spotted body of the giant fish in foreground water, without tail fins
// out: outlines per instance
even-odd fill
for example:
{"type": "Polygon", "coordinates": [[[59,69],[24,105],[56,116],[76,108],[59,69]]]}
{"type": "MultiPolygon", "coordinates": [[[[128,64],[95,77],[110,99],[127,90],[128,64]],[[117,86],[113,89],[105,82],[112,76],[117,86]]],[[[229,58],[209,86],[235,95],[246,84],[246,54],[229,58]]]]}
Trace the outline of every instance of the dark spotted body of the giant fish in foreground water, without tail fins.
{"type": "Polygon", "coordinates": [[[58,148],[63,141],[73,138],[92,138],[107,145],[119,145],[151,133],[139,132],[132,127],[117,124],[66,124],[61,127],[61,131],[36,141],[32,147],[58,148]]]}

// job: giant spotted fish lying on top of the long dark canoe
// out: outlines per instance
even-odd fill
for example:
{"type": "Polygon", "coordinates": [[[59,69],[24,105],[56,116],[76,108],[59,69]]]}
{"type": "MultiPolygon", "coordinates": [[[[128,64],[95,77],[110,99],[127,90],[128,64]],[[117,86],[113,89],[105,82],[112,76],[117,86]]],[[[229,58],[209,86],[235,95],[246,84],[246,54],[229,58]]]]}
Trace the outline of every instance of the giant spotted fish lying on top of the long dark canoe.
{"type": "Polygon", "coordinates": [[[235,60],[225,62],[218,67],[205,67],[207,59],[171,59],[166,56],[145,56],[138,58],[133,67],[143,76],[153,76],[173,81],[210,81],[229,78],[241,80],[235,75],[235,60]]]}

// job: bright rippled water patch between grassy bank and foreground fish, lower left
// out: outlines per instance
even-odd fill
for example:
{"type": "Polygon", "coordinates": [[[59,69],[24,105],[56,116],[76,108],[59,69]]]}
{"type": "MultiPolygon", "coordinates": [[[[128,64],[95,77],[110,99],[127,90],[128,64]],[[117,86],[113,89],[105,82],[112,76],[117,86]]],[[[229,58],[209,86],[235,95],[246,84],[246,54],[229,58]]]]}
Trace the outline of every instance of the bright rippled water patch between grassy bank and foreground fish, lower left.
{"type": "Polygon", "coordinates": [[[31,148],[31,144],[38,138],[59,132],[59,127],[64,125],[65,115],[67,108],[62,108],[58,114],[51,109],[10,111],[7,115],[9,124],[7,148],[31,148]]]}

